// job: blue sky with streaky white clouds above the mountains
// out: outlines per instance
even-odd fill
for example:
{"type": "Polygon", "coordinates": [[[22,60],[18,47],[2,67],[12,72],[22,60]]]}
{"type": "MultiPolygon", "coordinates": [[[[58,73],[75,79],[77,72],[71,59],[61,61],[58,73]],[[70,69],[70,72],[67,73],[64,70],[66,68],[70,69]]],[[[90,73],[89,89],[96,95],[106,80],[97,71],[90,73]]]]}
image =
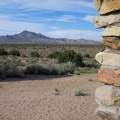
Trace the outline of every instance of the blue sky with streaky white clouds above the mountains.
{"type": "Polygon", "coordinates": [[[101,40],[92,0],[0,0],[0,35],[28,30],[53,38],[101,40]]]}

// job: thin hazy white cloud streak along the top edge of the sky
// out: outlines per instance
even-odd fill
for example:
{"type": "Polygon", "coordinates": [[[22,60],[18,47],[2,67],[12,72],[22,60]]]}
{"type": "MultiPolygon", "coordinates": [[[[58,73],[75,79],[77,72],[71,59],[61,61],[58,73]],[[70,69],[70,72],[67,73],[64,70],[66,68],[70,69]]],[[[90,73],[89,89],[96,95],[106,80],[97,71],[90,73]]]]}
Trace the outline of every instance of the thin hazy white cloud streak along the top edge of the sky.
{"type": "Polygon", "coordinates": [[[87,0],[0,0],[0,8],[27,10],[48,9],[53,11],[94,12],[93,2],[87,0]]]}

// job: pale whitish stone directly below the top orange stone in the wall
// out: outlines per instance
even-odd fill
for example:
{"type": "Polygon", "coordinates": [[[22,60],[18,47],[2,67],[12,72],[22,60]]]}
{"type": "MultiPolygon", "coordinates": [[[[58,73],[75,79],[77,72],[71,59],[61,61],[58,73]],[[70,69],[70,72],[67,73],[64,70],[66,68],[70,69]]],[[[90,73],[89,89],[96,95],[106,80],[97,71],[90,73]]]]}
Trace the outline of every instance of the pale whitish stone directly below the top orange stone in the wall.
{"type": "Polygon", "coordinates": [[[120,13],[97,16],[94,18],[94,23],[96,28],[102,28],[110,24],[120,23],[120,13]]]}

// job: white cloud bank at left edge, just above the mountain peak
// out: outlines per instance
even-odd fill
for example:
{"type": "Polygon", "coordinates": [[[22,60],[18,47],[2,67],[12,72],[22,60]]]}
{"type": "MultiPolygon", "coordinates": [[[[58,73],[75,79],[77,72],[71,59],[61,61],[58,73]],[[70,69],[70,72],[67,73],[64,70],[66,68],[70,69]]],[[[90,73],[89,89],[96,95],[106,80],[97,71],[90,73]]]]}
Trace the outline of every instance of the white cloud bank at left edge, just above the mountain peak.
{"type": "Polygon", "coordinates": [[[44,30],[44,25],[32,22],[11,21],[9,16],[0,14],[0,34],[15,34],[23,30],[40,32],[44,30]],[[6,32],[7,31],[7,32],[6,32]]]}

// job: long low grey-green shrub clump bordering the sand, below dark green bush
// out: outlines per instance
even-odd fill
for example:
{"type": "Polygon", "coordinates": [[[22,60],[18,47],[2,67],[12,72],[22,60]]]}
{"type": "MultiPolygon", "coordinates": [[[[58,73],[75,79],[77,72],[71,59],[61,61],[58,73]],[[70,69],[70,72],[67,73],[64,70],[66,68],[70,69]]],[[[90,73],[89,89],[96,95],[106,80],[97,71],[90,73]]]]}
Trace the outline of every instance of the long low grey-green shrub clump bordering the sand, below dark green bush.
{"type": "Polygon", "coordinates": [[[32,64],[26,68],[27,74],[43,74],[43,75],[65,75],[67,73],[73,73],[75,70],[75,64],[32,64]]]}

